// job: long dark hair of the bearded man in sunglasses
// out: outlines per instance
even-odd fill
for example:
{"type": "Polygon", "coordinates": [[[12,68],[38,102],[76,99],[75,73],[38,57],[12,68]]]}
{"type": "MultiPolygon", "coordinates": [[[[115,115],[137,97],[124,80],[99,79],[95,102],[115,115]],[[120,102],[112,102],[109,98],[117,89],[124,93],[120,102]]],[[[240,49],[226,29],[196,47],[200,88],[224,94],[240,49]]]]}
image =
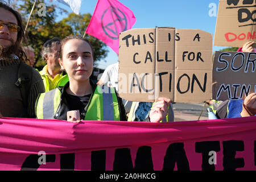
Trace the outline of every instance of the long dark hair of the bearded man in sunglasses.
{"type": "Polygon", "coordinates": [[[26,63],[27,56],[26,56],[26,53],[24,53],[24,51],[22,49],[22,45],[21,45],[22,41],[24,43],[27,43],[27,39],[24,34],[25,31],[24,31],[24,27],[23,27],[22,18],[20,16],[20,14],[18,13],[18,11],[15,11],[14,9],[12,9],[10,6],[6,5],[5,3],[0,2],[0,8],[1,7],[7,11],[10,11],[10,13],[12,13],[15,16],[15,18],[17,19],[18,26],[20,28],[19,28],[19,31],[17,34],[16,42],[14,44],[13,52],[16,56],[19,57],[20,61],[26,63]]]}

